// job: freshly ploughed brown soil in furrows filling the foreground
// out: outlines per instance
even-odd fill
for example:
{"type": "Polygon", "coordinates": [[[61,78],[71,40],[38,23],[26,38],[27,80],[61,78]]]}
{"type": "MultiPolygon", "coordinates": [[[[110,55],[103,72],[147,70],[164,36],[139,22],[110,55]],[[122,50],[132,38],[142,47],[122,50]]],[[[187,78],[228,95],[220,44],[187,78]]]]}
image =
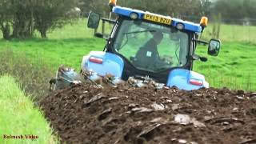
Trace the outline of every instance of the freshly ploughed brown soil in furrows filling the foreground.
{"type": "Polygon", "coordinates": [[[78,85],[40,103],[66,143],[256,143],[256,93],[78,85]]]}

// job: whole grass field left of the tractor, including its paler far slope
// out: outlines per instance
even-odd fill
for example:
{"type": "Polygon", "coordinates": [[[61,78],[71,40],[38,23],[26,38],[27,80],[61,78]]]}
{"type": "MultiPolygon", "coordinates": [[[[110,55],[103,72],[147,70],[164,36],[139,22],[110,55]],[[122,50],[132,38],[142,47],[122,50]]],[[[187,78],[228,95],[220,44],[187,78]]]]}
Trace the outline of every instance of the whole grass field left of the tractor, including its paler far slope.
{"type": "MultiPolygon", "coordinates": [[[[91,50],[103,50],[105,40],[93,38],[94,30],[86,29],[86,21],[79,20],[73,25],[67,25],[48,34],[47,39],[35,38],[28,40],[0,40],[0,49],[11,48],[15,54],[26,54],[31,61],[41,59],[57,70],[65,64],[80,68],[82,56],[91,50]]],[[[0,34],[1,35],[1,34],[0,34]]]]}

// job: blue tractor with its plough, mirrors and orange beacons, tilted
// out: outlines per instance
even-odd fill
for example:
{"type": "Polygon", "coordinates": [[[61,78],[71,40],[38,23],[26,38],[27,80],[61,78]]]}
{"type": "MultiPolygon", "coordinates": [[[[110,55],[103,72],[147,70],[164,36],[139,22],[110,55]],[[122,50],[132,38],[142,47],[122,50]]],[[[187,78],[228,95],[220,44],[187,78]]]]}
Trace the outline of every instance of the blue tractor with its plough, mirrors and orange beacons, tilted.
{"type": "Polygon", "coordinates": [[[115,20],[111,15],[110,18],[100,18],[99,14],[90,12],[87,23],[89,28],[97,30],[102,20],[102,33],[95,32],[94,36],[106,39],[104,50],[91,51],[84,56],[80,73],[61,66],[56,78],[50,81],[54,90],[80,82],[102,86],[102,81],[112,86],[129,82],[134,86],[176,86],[182,90],[209,87],[202,74],[192,71],[195,60],[207,61],[195,54],[198,44],[208,45],[211,56],[217,56],[220,50],[219,40],[205,42],[198,39],[208,18],[202,17],[197,24],[116,6],[115,0],[110,0],[109,4],[115,20]],[[113,25],[108,36],[105,34],[106,23],[113,25]]]}

